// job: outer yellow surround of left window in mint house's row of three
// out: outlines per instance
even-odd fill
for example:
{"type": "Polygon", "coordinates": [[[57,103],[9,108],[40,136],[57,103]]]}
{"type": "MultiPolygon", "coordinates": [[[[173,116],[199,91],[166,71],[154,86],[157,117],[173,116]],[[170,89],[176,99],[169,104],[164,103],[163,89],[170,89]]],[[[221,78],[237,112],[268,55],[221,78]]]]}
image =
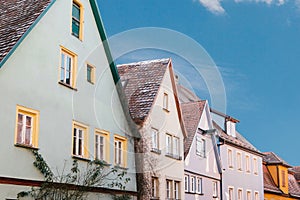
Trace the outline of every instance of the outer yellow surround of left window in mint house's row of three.
{"type": "Polygon", "coordinates": [[[72,122],[72,156],[79,157],[79,158],[89,158],[89,140],[88,140],[88,134],[89,134],[89,127],[83,123],[74,121],[72,122]],[[73,153],[74,148],[74,129],[81,129],[83,131],[83,155],[75,155],[73,153]]]}

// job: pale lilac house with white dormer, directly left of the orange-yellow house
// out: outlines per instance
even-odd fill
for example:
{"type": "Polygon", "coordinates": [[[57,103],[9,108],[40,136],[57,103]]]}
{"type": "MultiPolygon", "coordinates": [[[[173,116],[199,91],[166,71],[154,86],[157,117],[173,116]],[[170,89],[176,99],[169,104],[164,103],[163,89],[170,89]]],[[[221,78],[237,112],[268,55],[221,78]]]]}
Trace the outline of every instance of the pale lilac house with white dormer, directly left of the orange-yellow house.
{"type": "Polygon", "coordinates": [[[224,129],[214,123],[222,162],[223,199],[263,199],[263,154],[236,131],[238,120],[218,111],[211,111],[225,121],[224,129]]]}

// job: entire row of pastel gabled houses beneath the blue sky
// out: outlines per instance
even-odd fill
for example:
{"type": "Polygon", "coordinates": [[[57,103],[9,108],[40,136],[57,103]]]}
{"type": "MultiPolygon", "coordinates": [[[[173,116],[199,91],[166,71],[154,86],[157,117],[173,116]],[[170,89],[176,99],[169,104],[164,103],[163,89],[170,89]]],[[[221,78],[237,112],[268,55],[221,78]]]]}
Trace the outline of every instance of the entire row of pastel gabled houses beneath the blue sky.
{"type": "Polygon", "coordinates": [[[116,65],[95,0],[0,5],[0,199],[44,183],[32,151],[55,175],[74,160],[126,173],[88,199],[300,199],[300,169],[180,85],[170,58],[116,65]]]}

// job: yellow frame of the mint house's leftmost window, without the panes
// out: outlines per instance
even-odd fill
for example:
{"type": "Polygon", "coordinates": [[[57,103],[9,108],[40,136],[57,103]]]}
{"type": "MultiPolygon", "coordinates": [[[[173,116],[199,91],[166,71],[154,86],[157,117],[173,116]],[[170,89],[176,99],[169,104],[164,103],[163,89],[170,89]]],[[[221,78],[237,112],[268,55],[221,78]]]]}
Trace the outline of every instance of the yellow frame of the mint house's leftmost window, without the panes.
{"type": "Polygon", "coordinates": [[[16,125],[15,125],[15,145],[24,146],[29,148],[37,148],[38,147],[38,136],[39,136],[39,124],[40,124],[40,112],[38,110],[34,110],[31,108],[27,108],[24,106],[17,105],[16,108],[16,125]],[[31,132],[31,145],[18,143],[18,114],[30,116],[33,119],[32,122],[32,132],[31,132]]]}

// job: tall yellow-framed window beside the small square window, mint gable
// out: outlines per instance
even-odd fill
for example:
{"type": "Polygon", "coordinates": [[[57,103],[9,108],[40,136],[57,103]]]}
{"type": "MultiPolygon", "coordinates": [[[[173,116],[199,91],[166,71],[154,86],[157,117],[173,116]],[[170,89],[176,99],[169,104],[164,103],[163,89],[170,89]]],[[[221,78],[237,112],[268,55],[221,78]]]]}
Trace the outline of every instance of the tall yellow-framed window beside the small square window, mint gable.
{"type": "Polygon", "coordinates": [[[64,85],[75,88],[77,55],[64,47],[61,47],[60,54],[61,61],[59,82],[64,85]]]}

